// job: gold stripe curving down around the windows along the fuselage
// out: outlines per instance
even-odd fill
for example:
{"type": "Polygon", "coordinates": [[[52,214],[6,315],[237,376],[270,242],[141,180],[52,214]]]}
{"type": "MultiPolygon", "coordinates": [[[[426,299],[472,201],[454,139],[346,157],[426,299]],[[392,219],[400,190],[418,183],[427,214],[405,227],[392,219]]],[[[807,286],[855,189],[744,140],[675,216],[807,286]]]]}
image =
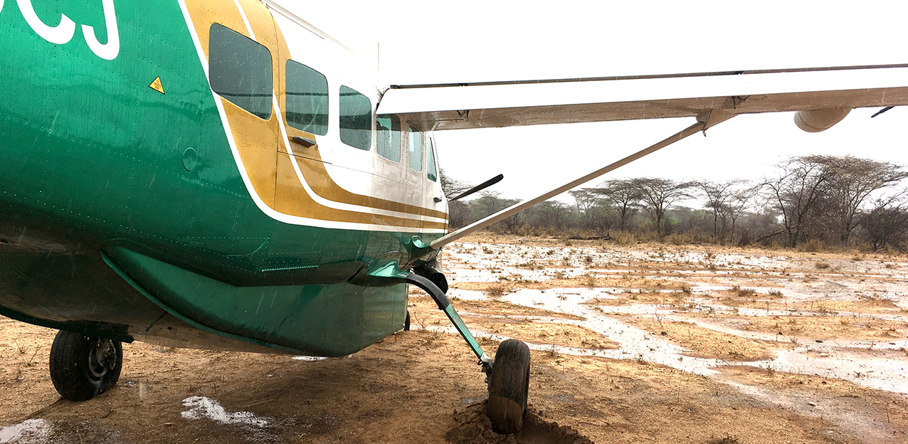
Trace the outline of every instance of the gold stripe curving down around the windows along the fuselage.
{"type": "MultiPolygon", "coordinates": [[[[289,60],[289,47],[267,7],[255,0],[239,0],[239,2],[252,28],[252,34],[271,52],[275,94],[279,106],[283,108],[285,106],[284,66],[289,60]],[[275,60],[278,62],[275,63],[275,60]]],[[[247,37],[250,36],[234,2],[187,0],[185,4],[192,17],[192,25],[199,37],[206,59],[209,32],[213,23],[229,27],[247,37]]],[[[207,61],[203,62],[207,63],[207,61]]],[[[448,214],[445,212],[344,190],[331,179],[317,150],[309,149],[305,153],[297,153],[302,155],[286,153],[284,145],[286,142],[281,140],[279,125],[283,125],[283,130],[291,137],[301,135],[315,139],[314,134],[301,132],[285,122],[279,122],[277,117],[279,113],[272,112],[268,120],[262,120],[226,99],[219,98],[219,100],[221,100],[230,123],[230,131],[242,161],[241,167],[248,174],[254,192],[272,210],[291,216],[335,222],[369,223],[415,230],[419,230],[419,228],[434,231],[447,229],[446,222],[420,221],[406,217],[374,214],[368,211],[339,210],[315,202],[301,185],[300,178],[292,168],[292,163],[296,163],[299,167],[303,179],[311,187],[311,191],[327,200],[377,210],[413,214],[414,216],[433,217],[441,220],[448,218],[448,214]]]]}

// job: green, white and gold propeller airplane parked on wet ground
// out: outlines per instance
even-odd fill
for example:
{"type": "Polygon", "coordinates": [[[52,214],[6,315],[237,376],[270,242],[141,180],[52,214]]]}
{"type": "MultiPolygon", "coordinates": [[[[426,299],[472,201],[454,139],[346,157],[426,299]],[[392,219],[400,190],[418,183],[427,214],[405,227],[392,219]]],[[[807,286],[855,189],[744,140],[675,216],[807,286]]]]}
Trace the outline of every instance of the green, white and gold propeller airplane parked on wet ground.
{"type": "Polygon", "coordinates": [[[409,323],[414,285],[517,432],[528,346],[481,349],[446,244],[738,114],[818,132],[908,104],[908,64],[389,86],[272,0],[36,3],[0,0],[0,315],[59,331],[67,400],[113,387],[133,340],[349,355],[409,323]],[[668,117],[693,123],[449,230],[435,132],[668,117]]]}

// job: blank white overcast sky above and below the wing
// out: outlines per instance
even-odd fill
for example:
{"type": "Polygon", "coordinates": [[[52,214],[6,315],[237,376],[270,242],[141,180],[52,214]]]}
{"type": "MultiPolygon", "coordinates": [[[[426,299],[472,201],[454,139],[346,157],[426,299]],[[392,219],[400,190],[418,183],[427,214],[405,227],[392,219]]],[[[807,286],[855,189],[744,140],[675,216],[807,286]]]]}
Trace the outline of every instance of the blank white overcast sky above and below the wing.
{"type": "MultiPolygon", "coordinates": [[[[904,1],[319,3],[282,2],[371,59],[380,42],[390,84],[908,63],[904,1]]],[[[876,111],[855,110],[824,133],[797,129],[791,113],[738,116],[602,180],[758,179],[810,153],[908,163],[908,110],[871,120],[876,111]]],[[[480,183],[504,173],[491,190],[527,199],[691,123],[443,131],[436,141],[452,177],[480,183]]]]}

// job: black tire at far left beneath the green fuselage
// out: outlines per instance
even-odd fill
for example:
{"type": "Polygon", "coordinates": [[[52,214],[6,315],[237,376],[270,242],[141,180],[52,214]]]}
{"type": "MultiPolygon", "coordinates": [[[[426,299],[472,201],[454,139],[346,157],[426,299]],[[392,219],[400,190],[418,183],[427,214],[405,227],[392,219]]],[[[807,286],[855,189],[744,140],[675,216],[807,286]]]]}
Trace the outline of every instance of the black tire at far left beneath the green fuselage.
{"type": "Polygon", "coordinates": [[[91,400],[120,379],[123,344],[58,331],[51,346],[51,381],[66,400],[91,400]]]}

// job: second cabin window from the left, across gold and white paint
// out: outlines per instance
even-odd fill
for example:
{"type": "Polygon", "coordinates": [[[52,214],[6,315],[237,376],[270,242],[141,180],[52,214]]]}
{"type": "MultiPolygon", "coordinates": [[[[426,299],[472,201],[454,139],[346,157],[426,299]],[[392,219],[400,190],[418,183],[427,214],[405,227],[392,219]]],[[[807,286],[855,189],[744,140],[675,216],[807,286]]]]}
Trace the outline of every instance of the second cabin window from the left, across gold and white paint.
{"type": "Polygon", "coordinates": [[[328,79],[314,69],[287,61],[287,123],[306,133],[328,133],[328,79]]]}

